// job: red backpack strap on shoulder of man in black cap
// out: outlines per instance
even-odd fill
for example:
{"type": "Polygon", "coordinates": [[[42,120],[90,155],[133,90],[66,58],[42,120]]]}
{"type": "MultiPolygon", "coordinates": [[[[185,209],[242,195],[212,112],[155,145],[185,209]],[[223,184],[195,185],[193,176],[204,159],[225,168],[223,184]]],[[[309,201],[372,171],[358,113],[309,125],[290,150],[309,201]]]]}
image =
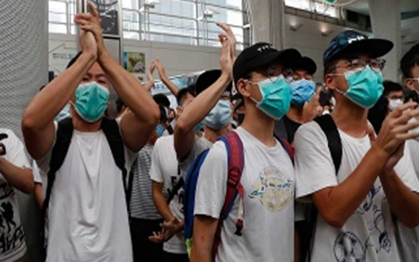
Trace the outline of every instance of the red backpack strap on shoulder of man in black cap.
{"type": "Polygon", "coordinates": [[[221,227],[223,221],[228,217],[228,213],[233,207],[233,203],[237,194],[240,195],[240,208],[239,215],[236,221],[236,235],[242,235],[243,228],[243,217],[244,217],[244,188],[240,183],[244,168],[244,151],[243,143],[240,136],[236,132],[227,133],[225,136],[220,138],[226,145],[227,156],[228,156],[228,179],[227,179],[227,192],[226,199],[221,209],[219,222],[216,228],[214,236],[214,244],[212,246],[212,259],[215,259],[216,251],[221,242],[221,227]]]}

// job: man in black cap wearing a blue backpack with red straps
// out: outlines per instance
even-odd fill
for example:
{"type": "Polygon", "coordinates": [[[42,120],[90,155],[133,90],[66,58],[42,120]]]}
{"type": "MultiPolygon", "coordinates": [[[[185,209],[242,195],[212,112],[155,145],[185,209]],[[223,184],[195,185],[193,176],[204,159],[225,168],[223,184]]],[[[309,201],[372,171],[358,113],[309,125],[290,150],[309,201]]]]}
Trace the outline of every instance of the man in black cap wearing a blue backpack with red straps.
{"type": "MultiPolygon", "coordinates": [[[[246,114],[235,132],[244,150],[240,180],[244,199],[237,197],[223,220],[221,241],[213,261],[294,261],[294,170],[281,143],[274,138],[274,121],[291,103],[291,87],[284,72],[297,50],[278,51],[269,43],[244,49],[235,60],[235,87],[246,114]],[[241,210],[241,211],[240,211],[241,210]],[[242,235],[235,234],[242,218],[242,235]]],[[[212,243],[226,199],[226,147],[221,141],[210,149],[196,185],[191,261],[212,261],[212,243]]]]}

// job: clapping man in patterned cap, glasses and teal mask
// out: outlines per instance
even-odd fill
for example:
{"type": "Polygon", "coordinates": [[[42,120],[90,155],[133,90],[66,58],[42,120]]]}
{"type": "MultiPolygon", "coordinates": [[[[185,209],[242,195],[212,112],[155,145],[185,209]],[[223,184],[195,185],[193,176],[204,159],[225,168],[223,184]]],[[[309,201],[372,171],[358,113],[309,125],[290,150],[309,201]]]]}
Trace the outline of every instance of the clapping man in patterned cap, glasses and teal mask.
{"type": "MultiPolygon", "coordinates": [[[[390,41],[344,31],[323,53],[325,85],[336,105],[331,113],[341,143],[335,166],[328,139],[316,122],[295,133],[296,197],[318,210],[311,261],[401,261],[392,214],[407,226],[419,224],[419,182],[404,141],[418,124],[415,103],[390,112],[375,136],[367,122],[383,92],[381,59],[390,41]],[[406,153],[407,152],[407,153],[406,153]]],[[[330,141],[329,141],[330,142],[330,141]]]]}

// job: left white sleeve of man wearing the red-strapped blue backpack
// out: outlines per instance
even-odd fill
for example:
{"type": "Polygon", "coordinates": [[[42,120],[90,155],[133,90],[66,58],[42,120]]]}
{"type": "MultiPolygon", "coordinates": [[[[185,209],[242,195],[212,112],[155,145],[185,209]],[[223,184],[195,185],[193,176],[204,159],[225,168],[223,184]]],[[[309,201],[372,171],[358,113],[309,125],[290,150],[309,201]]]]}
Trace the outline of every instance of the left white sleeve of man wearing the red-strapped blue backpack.
{"type": "Polygon", "coordinates": [[[216,142],[200,167],[193,214],[219,218],[226,198],[227,161],[226,146],[216,142]]]}

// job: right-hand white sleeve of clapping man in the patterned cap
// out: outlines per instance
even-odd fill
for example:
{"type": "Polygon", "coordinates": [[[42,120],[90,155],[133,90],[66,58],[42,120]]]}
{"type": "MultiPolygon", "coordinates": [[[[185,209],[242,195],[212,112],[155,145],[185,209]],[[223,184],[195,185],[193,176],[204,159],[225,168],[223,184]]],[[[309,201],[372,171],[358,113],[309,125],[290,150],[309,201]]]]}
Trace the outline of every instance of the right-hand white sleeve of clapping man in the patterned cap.
{"type": "Polygon", "coordinates": [[[395,172],[400,177],[400,179],[406,184],[406,187],[409,187],[411,191],[419,193],[419,180],[416,175],[415,169],[413,168],[413,163],[411,161],[411,153],[409,148],[404,147],[403,157],[399,160],[395,166],[395,172]]]}

